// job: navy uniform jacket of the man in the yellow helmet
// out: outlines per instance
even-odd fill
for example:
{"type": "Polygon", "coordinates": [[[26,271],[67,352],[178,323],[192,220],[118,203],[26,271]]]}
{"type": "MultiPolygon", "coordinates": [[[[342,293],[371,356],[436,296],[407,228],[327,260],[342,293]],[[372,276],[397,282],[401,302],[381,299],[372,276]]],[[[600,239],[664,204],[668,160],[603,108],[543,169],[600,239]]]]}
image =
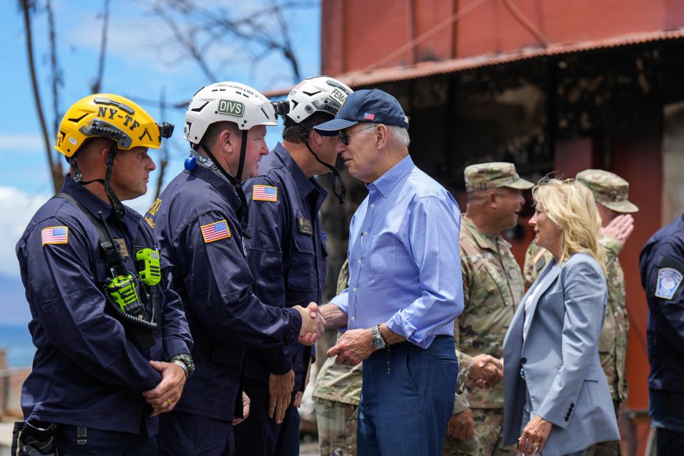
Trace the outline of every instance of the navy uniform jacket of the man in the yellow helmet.
{"type": "MultiPolygon", "coordinates": [[[[112,214],[109,204],[71,177],[62,192],[96,217],[99,211],[112,214]]],[[[123,224],[114,216],[107,224],[129,253],[134,245],[155,247],[151,229],[133,210],[127,210],[123,224]]],[[[190,353],[188,324],[170,288],[168,264],[162,264],[162,282],[156,287],[161,335],[143,351],[127,339],[121,322],[105,312],[100,287],[107,273],[99,240],[97,228],[79,207],[55,197],[40,207],[16,244],[36,346],[21,406],[29,420],[154,435],[158,419],[149,418],[151,408],[142,392],[155,388],[162,375],[148,360],[190,353]]],[[[131,273],[137,270],[130,255],[126,262],[131,273]]]]}

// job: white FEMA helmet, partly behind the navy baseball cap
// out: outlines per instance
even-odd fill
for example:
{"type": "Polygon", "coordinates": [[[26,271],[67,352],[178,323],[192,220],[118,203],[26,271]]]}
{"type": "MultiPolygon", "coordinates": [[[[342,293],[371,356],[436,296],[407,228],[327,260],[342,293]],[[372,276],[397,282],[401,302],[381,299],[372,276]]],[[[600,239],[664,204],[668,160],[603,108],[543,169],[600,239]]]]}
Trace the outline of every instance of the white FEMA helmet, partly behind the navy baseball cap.
{"type": "Polygon", "coordinates": [[[294,123],[300,123],[317,111],[334,116],[351,92],[353,90],[338,79],[327,76],[309,77],[290,91],[288,117],[294,123]]]}

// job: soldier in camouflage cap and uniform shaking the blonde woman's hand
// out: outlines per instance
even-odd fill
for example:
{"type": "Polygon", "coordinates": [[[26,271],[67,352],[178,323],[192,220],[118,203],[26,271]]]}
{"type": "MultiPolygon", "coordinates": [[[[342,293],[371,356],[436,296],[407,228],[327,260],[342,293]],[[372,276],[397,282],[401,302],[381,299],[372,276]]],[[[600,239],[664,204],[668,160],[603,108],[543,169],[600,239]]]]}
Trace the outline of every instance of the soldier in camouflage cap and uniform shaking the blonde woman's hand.
{"type": "MultiPolygon", "coordinates": [[[[533,186],[511,163],[471,165],[464,174],[468,207],[459,235],[464,311],[454,331],[459,363],[477,353],[503,357],[503,340],[524,287],[511,245],[500,233],[516,226],[522,190],[533,186]]],[[[501,446],[502,429],[503,385],[485,391],[468,383],[467,391],[457,394],[442,454],[514,455],[514,448],[501,446]]]]}

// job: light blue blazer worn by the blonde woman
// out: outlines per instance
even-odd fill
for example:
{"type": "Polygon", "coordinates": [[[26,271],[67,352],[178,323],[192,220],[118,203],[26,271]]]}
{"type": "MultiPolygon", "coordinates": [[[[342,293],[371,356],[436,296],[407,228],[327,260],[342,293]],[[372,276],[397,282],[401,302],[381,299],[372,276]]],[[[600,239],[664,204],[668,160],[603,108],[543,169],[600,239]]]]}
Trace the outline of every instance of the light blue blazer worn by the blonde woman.
{"type": "Polygon", "coordinates": [[[608,299],[603,269],[587,253],[575,253],[552,270],[554,265],[551,261],[544,268],[522,298],[503,342],[503,444],[518,442],[528,420],[540,415],[553,423],[544,456],[620,440],[598,358],[608,299]],[[530,307],[532,320],[522,342],[524,303],[535,286],[540,290],[530,307]]]}

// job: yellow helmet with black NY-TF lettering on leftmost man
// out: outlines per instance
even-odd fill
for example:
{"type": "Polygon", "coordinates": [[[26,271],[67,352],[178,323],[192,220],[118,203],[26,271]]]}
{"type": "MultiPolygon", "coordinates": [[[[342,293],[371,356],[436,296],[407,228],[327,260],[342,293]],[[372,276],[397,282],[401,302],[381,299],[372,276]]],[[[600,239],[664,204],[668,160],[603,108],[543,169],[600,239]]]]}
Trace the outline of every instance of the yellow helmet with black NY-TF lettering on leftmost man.
{"type": "Polygon", "coordinates": [[[88,95],[66,111],[55,149],[72,157],[87,138],[116,141],[120,150],[133,147],[159,149],[162,138],[170,138],[173,125],[157,124],[137,103],[109,93],[88,95]]]}

